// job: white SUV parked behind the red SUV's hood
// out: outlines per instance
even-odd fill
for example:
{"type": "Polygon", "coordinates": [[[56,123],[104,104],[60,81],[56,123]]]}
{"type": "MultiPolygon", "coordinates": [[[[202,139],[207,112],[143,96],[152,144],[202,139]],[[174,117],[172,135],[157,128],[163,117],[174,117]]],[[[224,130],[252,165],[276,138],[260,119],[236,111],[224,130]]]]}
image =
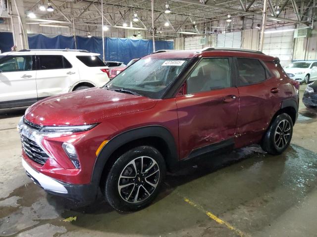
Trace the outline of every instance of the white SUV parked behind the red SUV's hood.
{"type": "Polygon", "coordinates": [[[101,87],[109,70],[86,50],[21,50],[0,54],[0,109],[26,107],[45,97],[101,87]]]}

